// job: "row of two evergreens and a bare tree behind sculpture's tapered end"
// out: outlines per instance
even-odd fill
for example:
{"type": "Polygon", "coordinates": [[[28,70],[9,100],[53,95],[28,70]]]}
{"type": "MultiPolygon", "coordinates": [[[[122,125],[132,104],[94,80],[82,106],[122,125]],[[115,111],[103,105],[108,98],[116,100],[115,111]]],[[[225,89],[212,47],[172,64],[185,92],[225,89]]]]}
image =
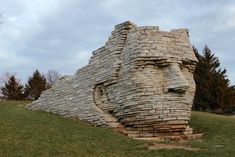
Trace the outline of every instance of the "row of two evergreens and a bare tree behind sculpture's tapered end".
{"type": "Polygon", "coordinates": [[[49,70],[46,75],[38,70],[30,76],[25,85],[16,78],[15,74],[7,73],[1,87],[4,98],[9,100],[37,100],[42,91],[49,89],[60,78],[59,72],[49,70]]]}

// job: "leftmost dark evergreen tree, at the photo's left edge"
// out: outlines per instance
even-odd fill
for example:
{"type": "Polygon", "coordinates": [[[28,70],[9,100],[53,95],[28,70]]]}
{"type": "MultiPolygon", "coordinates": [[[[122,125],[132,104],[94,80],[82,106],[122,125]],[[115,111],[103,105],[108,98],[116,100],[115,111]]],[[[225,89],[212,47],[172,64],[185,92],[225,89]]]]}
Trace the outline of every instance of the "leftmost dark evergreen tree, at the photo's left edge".
{"type": "Polygon", "coordinates": [[[20,81],[17,81],[15,76],[12,75],[5,82],[4,86],[1,88],[2,94],[9,100],[23,100],[23,86],[20,81]]]}

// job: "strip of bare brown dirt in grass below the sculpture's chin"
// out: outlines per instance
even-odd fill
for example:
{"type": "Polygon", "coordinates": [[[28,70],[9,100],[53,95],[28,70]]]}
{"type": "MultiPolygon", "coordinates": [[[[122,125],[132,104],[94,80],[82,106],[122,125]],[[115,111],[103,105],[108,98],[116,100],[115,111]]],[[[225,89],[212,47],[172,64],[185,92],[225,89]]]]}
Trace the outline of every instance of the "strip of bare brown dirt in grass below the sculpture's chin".
{"type": "Polygon", "coordinates": [[[175,145],[175,144],[160,144],[160,143],[152,143],[149,145],[149,149],[151,150],[159,150],[159,149],[184,149],[189,151],[199,151],[200,148],[192,148],[190,146],[185,145],[175,145]]]}

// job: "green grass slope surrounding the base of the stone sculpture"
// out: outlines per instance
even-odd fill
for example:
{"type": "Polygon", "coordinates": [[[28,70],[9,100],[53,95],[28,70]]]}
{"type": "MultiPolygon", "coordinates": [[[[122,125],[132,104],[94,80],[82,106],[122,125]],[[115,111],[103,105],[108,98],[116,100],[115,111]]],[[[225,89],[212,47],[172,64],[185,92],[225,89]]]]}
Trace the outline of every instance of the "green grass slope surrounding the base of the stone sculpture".
{"type": "Polygon", "coordinates": [[[185,144],[200,151],[148,150],[145,141],[76,119],[24,109],[27,102],[0,102],[0,157],[234,157],[235,118],[193,112],[190,125],[204,133],[185,144]]]}

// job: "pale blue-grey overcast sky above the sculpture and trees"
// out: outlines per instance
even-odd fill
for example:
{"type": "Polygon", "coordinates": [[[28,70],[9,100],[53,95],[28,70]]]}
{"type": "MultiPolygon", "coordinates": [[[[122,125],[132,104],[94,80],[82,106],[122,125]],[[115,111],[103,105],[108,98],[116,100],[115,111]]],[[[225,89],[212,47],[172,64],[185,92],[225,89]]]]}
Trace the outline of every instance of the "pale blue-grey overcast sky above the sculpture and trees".
{"type": "Polygon", "coordinates": [[[234,0],[0,0],[0,74],[23,82],[35,69],[74,74],[104,45],[114,25],[133,21],[160,30],[188,28],[235,84],[234,0]]]}

